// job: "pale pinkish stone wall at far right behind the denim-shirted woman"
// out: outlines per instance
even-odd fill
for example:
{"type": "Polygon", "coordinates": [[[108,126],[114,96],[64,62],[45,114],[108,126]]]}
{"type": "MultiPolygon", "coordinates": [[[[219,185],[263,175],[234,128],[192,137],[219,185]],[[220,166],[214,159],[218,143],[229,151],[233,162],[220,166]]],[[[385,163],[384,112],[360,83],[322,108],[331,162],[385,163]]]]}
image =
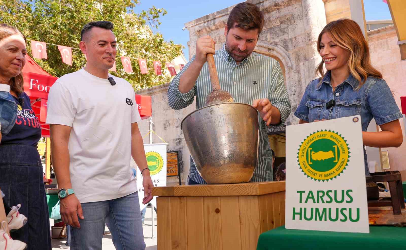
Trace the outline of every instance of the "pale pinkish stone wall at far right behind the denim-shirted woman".
{"type": "MultiPolygon", "coordinates": [[[[368,32],[368,43],[372,64],[382,73],[384,80],[391,88],[397,106],[400,107],[400,97],[406,96],[406,60],[401,60],[397,45],[396,30],[393,25],[368,32]]],[[[403,135],[405,128],[403,119],[400,119],[403,135]]],[[[406,137],[399,148],[382,148],[388,150],[391,170],[406,170],[406,137]]]]}

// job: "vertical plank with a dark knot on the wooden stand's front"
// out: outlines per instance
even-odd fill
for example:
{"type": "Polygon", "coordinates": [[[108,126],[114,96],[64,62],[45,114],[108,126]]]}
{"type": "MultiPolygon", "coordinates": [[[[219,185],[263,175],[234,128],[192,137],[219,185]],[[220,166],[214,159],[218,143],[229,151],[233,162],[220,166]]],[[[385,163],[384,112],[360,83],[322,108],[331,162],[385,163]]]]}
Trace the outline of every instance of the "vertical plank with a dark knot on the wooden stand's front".
{"type": "Polygon", "coordinates": [[[203,206],[205,250],[222,250],[220,197],[204,197],[203,206]]]}

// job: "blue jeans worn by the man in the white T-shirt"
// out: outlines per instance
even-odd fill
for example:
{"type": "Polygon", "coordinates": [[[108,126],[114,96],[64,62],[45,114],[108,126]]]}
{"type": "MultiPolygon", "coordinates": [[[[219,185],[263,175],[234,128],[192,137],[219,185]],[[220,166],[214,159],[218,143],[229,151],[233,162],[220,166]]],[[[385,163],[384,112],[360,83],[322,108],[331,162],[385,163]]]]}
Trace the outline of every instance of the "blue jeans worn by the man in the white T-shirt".
{"type": "Polygon", "coordinates": [[[101,250],[104,224],[107,224],[116,250],[144,250],[138,192],[97,202],[82,203],[84,220],[71,227],[71,250],[101,250]]]}

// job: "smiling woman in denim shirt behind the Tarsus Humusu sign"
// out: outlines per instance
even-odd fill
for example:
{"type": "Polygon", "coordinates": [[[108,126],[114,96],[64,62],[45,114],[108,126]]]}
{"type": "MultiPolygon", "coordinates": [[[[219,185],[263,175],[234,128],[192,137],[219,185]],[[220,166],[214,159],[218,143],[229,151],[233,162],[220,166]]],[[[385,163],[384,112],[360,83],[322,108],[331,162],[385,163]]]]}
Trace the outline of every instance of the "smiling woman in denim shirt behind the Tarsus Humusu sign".
{"type": "MultiPolygon", "coordinates": [[[[322,62],[316,73],[322,77],[307,85],[295,112],[299,123],[361,115],[365,146],[399,147],[403,136],[398,119],[402,114],[382,74],[371,65],[368,44],[358,24],[350,19],[330,22],[317,39],[317,51],[322,62]],[[326,107],[330,100],[335,105],[326,107]],[[372,118],[382,131],[367,132],[372,118]]],[[[365,149],[364,161],[369,175],[365,149]]]]}

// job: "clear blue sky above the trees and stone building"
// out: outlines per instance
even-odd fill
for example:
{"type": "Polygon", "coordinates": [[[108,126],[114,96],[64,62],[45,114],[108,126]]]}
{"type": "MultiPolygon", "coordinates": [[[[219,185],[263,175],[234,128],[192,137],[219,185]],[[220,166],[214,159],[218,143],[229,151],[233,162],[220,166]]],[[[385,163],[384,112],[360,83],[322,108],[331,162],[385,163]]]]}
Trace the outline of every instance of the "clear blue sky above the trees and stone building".
{"type": "MultiPolygon", "coordinates": [[[[315,0],[316,1],[316,0],[315,0]]],[[[162,25],[158,32],[162,33],[164,39],[173,40],[185,46],[184,54],[189,58],[188,45],[189,31],[182,30],[184,24],[207,14],[219,11],[234,4],[242,2],[241,0],[141,0],[141,4],[136,7],[135,12],[147,10],[151,6],[164,8],[168,11],[164,17],[160,18],[162,25]]],[[[364,0],[365,19],[380,20],[391,19],[388,5],[382,0],[364,0]]]]}

